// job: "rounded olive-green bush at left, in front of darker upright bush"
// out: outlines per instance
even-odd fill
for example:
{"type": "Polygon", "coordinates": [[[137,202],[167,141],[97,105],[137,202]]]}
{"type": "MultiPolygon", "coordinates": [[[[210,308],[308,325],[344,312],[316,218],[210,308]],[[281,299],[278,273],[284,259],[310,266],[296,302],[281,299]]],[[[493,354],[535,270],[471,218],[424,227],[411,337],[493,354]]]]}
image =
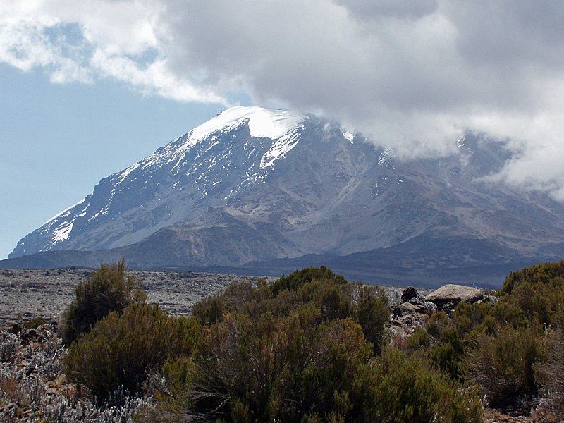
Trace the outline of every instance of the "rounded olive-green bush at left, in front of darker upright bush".
{"type": "Polygon", "coordinates": [[[132,305],[121,314],[111,312],[71,345],[65,373],[99,402],[119,387],[135,394],[147,372],[169,357],[190,355],[196,335],[194,319],[170,317],[158,305],[132,305]]]}

